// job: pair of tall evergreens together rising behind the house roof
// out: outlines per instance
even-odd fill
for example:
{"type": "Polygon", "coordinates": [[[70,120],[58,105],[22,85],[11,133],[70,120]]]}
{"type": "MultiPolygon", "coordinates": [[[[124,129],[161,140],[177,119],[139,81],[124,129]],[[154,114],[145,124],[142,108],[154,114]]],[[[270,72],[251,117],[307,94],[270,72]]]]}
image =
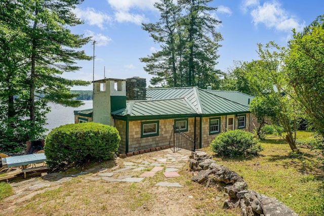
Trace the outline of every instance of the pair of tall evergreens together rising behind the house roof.
{"type": "Polygon", "coordinates": [[[152,84],[201,88],[218,85],[219,71],[215,66],[222,36],[215,31],[220,21],[210,13],[217,9],[208,6],[211,1],[179,0],[174,4],[163,0],[154,5],[160,20],[143,24],[143,29],[160,44],[161,50],[140,59],[146,63],[144,69],[154,75],[152,84]]]}

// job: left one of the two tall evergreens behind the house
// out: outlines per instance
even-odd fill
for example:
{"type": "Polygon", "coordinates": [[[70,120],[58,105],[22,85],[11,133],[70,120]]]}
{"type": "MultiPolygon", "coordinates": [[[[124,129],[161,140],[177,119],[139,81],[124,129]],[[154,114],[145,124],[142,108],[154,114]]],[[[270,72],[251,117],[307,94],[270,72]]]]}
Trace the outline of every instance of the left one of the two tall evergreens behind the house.
{"type": "Polygon", "coordinates": [[[160,12],[159,21],[143,23],[142,27],[150,33],[155,42],[161,44],[161,50],[146,58],[140,58],[140,61],[146,63],[144,70],[155,76],[151,84],[179,87],[177,30],[179,30],[181,8],[172,0],[155,3],[154,7],[160,12]]]}

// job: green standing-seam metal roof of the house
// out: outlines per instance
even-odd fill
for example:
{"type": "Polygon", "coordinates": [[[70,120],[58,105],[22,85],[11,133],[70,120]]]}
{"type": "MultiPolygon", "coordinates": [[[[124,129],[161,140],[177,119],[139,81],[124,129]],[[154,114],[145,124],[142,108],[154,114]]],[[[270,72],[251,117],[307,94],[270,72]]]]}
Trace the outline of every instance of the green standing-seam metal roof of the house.
{"type": "MultiPolygon", "coordinates": [[[[203,90],[197,87],[147,89],[146,101],[128,101],[127,107],[114,111],[114,116],[168,117],[172,115],[222,115],[247,113],[251,95],[234,91],[203,90]]],[[[92,109],[74,111],[92,116],[92,109]]]]}

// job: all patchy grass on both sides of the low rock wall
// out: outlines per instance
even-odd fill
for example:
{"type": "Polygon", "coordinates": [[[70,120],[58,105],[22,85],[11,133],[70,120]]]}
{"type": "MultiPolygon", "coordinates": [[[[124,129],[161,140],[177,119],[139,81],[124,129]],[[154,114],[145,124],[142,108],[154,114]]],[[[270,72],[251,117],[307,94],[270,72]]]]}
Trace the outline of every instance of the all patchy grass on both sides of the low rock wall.
{"type": "MultiPolygon", "coordinates": [[[[309,139],[311,133],[299,132],[298,137],[309,139]]],[[[302,154],[292,154],[289,145],[274,136],[261,145],[261,155],[253,158],[225,159],[213,155],[210,148],[203,150],[244,177],[250,190],[276,197],[301,216],[324,215],[324,171],[318,168],[319,153],[303,148],[302,154]]],[[[160,157],[157,154],[162,151],[118,159],[117,163],[160,157]]],[[[102,167],[112,167],[108,163],[103,162],[102,167]]],[[[238,208],[222,208],[227,198],[222,191],[192,182],[188,165],[179,174],[166,180],[160,171],[140,183],[89,181],[79,176],[17,204],[5,215],[240,215],[238,208]],[[162,181],[183,187],[154,186],[162,181]]]]}

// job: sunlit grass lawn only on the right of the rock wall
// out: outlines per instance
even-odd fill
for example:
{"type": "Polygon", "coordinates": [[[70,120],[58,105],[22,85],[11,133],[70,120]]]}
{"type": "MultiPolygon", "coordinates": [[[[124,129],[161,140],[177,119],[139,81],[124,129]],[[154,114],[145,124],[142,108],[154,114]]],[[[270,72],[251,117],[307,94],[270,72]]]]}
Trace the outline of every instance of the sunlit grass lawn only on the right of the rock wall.
{"type": "MultiPolygon", "coordinates": [[[[312,138],[311,133],[302,131],[297,137],[312,138]]],[[[293,154],[289,145],[275,136],[268,136],[261,145],[264,150],[259,157],[213,159],[244,177],[250,190],[276,197],[299,215],[324,215],[324,172],[318,168],[319,152],[300,148],[300,155],[293,154]]]]}

